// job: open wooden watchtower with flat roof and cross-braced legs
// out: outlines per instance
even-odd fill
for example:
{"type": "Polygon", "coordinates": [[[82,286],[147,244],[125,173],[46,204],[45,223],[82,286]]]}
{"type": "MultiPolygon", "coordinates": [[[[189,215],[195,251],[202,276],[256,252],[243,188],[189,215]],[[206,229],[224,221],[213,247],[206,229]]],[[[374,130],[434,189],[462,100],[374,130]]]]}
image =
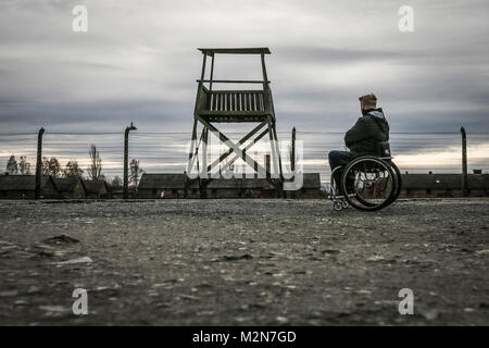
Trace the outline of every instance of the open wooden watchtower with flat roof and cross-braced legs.
{"type": "Polygon", "coordinates": [[[269,54],[268,48],[199,48],[203,54],[202,73],[200,79],[197,80],[197,98],[193,111],[193,129],[192,142],[189,152],[187,172],[192,170],[195,165],[201,166],[199,170],[199,178],[201,182],[210,179],[209,173],[216,166],[227,169],[230,163],[237,159],[242,159],[249,166],[251,166],[255,174],[266,175],[266,178],[278,189],[281,186],[281,160],[277,141],[277,130],[275,127],[276,119],[274,111],[274,102],[272,98],[272,90],[269,88],[269,80],[265,67],[265,54],[269,54]],[[213,79],[214,75],[214,60],[216,54],[254,54],[261,58],[261,67],[263,79],[261,80],[240,80],[240,79],[213,79]],[[210,78],[205,77],[205,66],[208,58],[211,59],[210,78]],[[216,86],[230,84],[241,85],[259,85],[261,88],[253,89],[221,89],[216,86]],[[238,142],[231,141],[223,132],[217,129],[215,124],[218,123],[258,123],[258,125],[250,130],[238,142]],[[198,138],[198,124],[202,125],[202,133],[200,140],[198,138]],[[227,145],[229,150],[222,153],[218,159],[212,163],[206,163],[206,145],[209,139],[209,132],[218,136],[220,140],[227,145]],[[256,144],[260,139],[268,135],[271,144],[271,160],[274,165],[274,172],[263,167],[260,163],[254,161],[247,154],[247,151],[256,144]],[[249,145],[244,146],[247,141],[249,145]],[[200,146],[202,145],[202,146],[200,146]],[[198,163],[199,148],[202,153],[202,163],[198,163]],[[224,161],[233,156],[230,161],[224,161]],[[197,160],[197,161],[196,161],[197,160]],[[197,162],[197,163],[196,163],[197,162]],[[222,164],[224,163],[224,165],[222,164]],[[200,165],[199,165],[200,164],[200,165]],[[206,169],[206,171],[202,171],[206,169]]]}

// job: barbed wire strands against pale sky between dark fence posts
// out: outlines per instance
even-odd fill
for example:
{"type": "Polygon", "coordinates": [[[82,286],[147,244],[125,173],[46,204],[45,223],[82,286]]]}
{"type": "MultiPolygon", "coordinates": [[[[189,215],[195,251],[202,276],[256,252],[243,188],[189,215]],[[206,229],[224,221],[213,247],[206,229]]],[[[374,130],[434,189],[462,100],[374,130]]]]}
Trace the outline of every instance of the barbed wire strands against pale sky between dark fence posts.
{"type": "MultiPolygon", "coordinates": [[[[240,133],[229,133],[239,138],[240,133]]],[[[297,140],[303,141],[303,170],[319,173],[323,183],[329,182],[327,153],[346,150],[344,133],[303,130],[297,132],[297,140]]],[[[489,172],[489,134],[468,133],[468,169],[489,172]]],[[[290,132],[278,132],[280,154],[287,163],[290,132]]],[[[102,173],[110,181],[123,175],[124,133],[47,132],[43,135],[42,157],[57,158],[61,167],[68,161],[77,161],[86,170],[89,165],[88,149],[93,144],[102,158],[102,173]]],[[[462,151],[460,132],[440,133],[391,133],[391,150],[401,172],[409,173],[461,173],[462,151]]],[[[129,136],[129,161],[140,161],[147,173],[183,173],[186,169],[190,134],[188,132],[131,132],[129,136]]],[[[258,147],[258,160],[263,163],[266,146],[258,147]]],[[[26,157],[30,172],[36,170],[37,133],[0,134],[0,171],[7,171],[11,156],[18,162],[26,157]]]]}

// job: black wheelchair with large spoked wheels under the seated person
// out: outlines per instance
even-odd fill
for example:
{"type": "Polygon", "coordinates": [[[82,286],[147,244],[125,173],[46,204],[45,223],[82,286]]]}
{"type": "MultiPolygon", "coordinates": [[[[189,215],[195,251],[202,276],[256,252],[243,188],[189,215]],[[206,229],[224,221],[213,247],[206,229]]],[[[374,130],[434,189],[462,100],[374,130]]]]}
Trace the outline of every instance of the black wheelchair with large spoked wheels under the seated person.
{"type": "Polygon", "coordinates": [[[354,158],[344,169],[331,172],[329,199],[336,211],[353,207],[361,211],[377,211],[392,204],[401,192],[401,172],[392,162],[388,141],[379,142],[378,156],[354,158]],[[339,188],[334,175],[342,170],[339,188]]]}

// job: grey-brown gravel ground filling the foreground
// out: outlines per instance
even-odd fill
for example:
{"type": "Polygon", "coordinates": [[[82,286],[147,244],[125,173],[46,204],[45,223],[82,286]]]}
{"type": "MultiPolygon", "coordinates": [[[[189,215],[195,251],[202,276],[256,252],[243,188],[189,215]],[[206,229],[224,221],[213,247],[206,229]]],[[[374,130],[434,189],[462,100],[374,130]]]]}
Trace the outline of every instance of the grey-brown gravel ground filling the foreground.
{"type": "Polygon", "coordinates": [[[489,199],[375,213],[325,200],[0,211],[2,325],[489,325],[489,199]],[[88,315],[73,314],[75,288],[88,315]],[[399,314],[401,288],[413,315],[399,314]]]}

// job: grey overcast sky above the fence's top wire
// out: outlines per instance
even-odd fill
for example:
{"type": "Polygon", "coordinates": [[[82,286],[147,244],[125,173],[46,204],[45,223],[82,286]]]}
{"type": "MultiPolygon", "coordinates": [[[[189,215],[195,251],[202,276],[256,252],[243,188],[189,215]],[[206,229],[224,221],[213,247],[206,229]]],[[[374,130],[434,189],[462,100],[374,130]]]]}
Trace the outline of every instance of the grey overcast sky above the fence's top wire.
{"type": "MultiPolygon", "coordinates": [[[[2,0],[0,133],[190,133],[196,48],[262,46],[279,130],[343,132],[373,91],[391,132],[489,132],[488,14],[487,0],[2,0]],[[72,30],[76,4],[88,33],[72,30]]],[[[215,76],[259,63],[217,57],[215,76]]]]}

